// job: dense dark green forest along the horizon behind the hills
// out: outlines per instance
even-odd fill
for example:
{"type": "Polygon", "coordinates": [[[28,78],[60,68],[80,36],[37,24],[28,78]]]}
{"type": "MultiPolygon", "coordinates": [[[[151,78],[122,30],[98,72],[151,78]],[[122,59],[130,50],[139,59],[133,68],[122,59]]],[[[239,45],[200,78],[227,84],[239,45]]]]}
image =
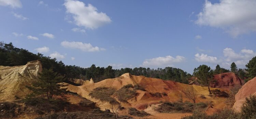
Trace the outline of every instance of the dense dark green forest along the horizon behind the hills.
{"type": "MultiPolygon", "coordinates": [[[[255,60],[253,58],[246,65],[248,67],[255,68],[255,60]]],[[[135,67],[135,68],[121,68],[121,69],[112,69],[112,66],[108,67],[96,67],[94,64],[89,68],[82,68],[79,66],[71,66],[65,65],[62,61],[57,61],[56,58],[51,58],[49,56],[44,56],[41,53],[33,54],[26,49],[19,49],[13,46],[12,43],[5,44],[0,42],[0,66],[19,66],[25,65],[29,61],[40,60],[43,68],[52,69],[59,74],[65,75],[67,79],[83,79],[89,80],[93,78],[95,82],[102,81],[104,79],[116,78],[124,73],[131,73],[132,75],[144,75],[145,77],[151,78],[159,78],[163,80],[172,80],[175,82],[188,83],[187,79],[192,77],[191,74],[183,71],[179,68],[143,68],[143,67],[135,67]]],[[[244,70],[237,69],[234,63],[231,66],[232,72],[239,75],[240,78],[245,78],[246,74],[244,70]]],[[[247,69],[248,70],[248,69],[247,69]]],[[[227,69],[221,68],[219,65],[216,66],[215,70],[213,70],[213,74],[219,74],[224,72],[230,72],[227,69]]],[[[250,77],[253,77],[254,69],[250,69],[249,72],[252,72],[250,77]]]]}

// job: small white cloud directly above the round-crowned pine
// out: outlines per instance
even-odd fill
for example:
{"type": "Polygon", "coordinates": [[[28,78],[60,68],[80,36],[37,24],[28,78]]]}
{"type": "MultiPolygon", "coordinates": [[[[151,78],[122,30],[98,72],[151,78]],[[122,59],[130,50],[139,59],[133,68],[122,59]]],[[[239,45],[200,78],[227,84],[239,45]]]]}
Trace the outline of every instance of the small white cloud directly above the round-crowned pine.
{"type": "Polygon", "coordinates": [[[207,54],[195,54],[195,60],[198,62],[208,62],[208,63],[217,63],[218,58],[213,56],[208,56],[207,54]]]}

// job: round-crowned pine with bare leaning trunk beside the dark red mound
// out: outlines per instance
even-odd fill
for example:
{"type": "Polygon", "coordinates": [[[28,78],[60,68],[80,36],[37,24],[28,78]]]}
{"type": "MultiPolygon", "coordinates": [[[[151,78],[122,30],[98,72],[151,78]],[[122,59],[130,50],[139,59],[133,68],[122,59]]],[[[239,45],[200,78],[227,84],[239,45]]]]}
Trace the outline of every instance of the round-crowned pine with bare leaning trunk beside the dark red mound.
{"type": "Polygon", "coordinates": [[[211,67],[208,67],[207,65],[200,65],[194,69],[193,74],[198,79],[200,84],[208,86],[209,94],[212,94],[209,86],[213,76],[211,67]]]}

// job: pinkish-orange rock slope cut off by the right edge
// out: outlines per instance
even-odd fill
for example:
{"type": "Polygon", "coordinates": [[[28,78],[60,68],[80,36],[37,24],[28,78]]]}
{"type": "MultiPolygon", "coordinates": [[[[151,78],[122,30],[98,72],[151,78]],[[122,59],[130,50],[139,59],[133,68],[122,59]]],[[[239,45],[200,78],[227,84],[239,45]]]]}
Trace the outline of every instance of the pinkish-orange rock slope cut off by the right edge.
{"type": "Polygon", "coordinates": [[[237,111],[241,111],[241,106],[243,105],[245,98],[250,95],[256,95],[256,77],[252,80],[246,82],[243,87],[236,94],[236,102],[233,108],[237,111]]]}

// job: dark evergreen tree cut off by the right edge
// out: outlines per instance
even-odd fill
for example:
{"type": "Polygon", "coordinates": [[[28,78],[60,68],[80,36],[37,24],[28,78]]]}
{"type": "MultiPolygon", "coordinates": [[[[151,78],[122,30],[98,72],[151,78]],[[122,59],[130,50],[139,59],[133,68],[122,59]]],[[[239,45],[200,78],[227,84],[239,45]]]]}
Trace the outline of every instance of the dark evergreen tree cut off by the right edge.
{"type": "Polygon", "coordinates": [[[248,71],[247,77],[249,80],[256,77],[256,56],[253,57],[245,67],[247,68],[245,70],[248,71]]]}

